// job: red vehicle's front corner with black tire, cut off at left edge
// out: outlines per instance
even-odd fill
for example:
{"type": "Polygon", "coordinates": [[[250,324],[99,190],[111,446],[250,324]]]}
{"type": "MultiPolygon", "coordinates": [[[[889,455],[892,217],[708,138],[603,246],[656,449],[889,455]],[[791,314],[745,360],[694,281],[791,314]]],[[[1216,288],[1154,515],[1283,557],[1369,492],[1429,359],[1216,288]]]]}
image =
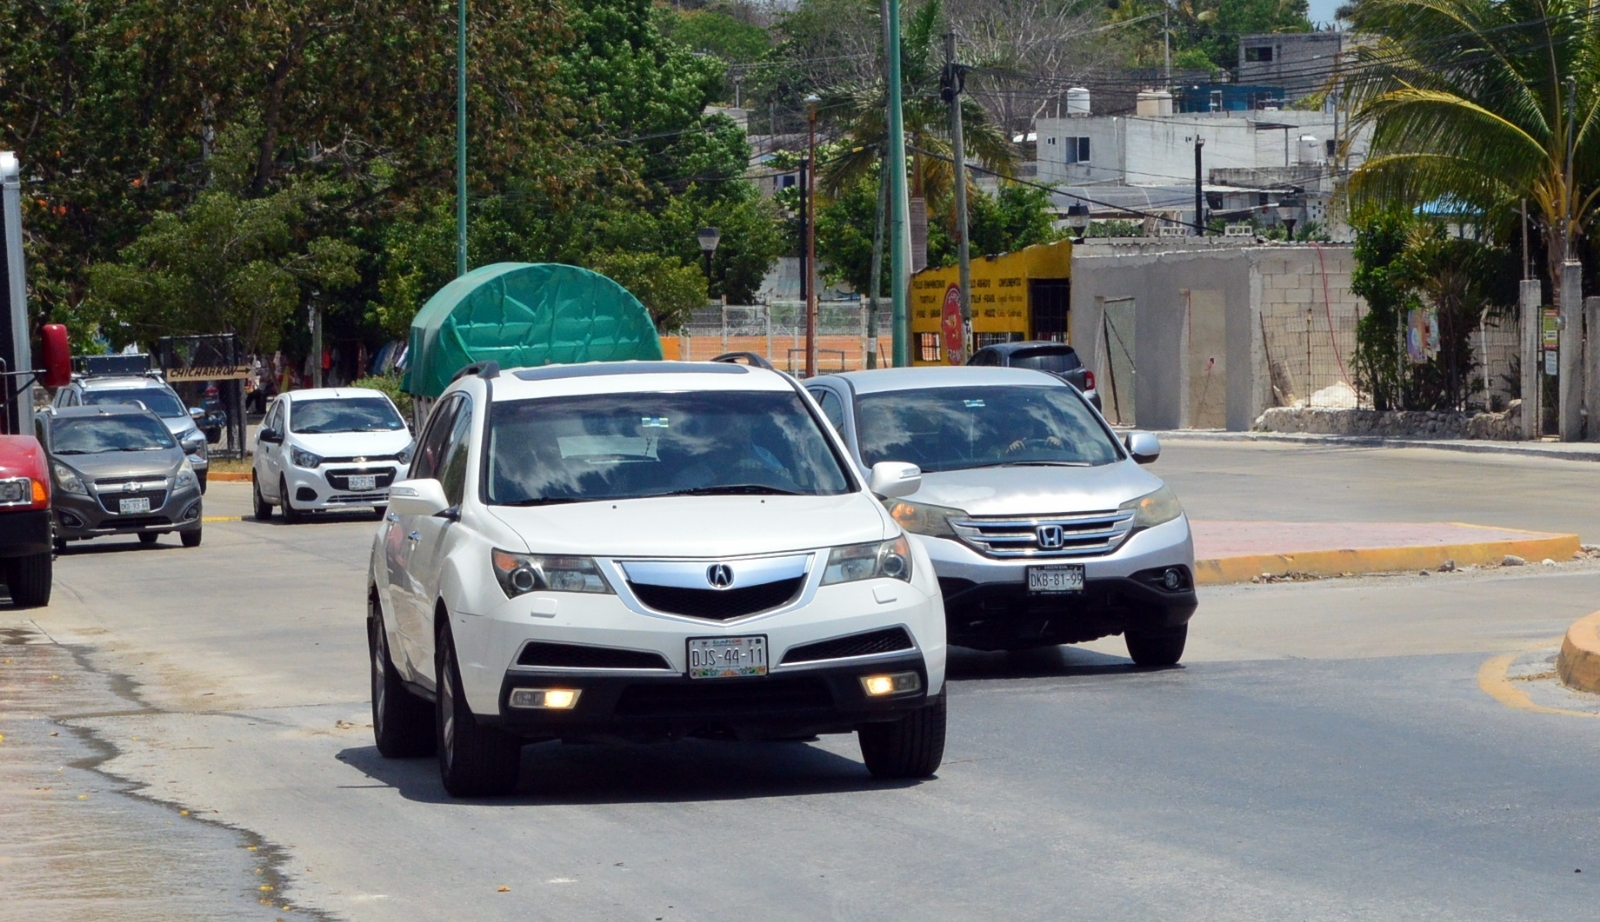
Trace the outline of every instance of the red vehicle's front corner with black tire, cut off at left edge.
{"type": "Polygon", "coordinates": [[[0,435],[0,576],[11,603],[50,603],[50,464],[32,435],[0,435]]]}

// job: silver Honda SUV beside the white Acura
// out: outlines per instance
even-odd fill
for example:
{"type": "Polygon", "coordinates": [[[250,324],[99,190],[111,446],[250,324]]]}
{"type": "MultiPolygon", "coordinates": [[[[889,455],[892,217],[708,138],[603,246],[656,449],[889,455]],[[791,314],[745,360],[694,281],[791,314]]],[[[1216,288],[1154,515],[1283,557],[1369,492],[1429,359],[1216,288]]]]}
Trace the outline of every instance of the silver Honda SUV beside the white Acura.
{"type": "Polygon", "coordinates": [[[893,368],[806,383],[862,471],[922,467],[890,512],[922,536],[950,643],[1016,650],[1123,634],[1141,666],[1184,653],[1194,541],[1178,496],[1078,391],[1022,368],[893,368]]]}

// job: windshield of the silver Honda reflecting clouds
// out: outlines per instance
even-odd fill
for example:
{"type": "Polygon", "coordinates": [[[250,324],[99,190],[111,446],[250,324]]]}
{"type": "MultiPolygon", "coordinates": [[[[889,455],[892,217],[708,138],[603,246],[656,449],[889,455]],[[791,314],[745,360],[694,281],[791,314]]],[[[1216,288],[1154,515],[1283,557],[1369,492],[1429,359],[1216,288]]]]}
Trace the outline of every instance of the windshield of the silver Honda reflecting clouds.
{"type": "Polygon", "coordinates": [[[1122,453],[1072,387],[888,391],[856,399],[861,459],[923,471],[1002,464],[1110,464],[1122,453]]]}

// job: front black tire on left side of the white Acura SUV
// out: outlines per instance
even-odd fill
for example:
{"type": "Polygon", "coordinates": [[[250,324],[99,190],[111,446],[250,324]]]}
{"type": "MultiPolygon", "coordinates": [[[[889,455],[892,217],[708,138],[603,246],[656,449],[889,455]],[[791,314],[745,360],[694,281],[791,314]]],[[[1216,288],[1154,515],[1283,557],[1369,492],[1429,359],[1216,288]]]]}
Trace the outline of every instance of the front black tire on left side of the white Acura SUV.
{"type": "Polygon", "coordinates": [[[467,706],[456,666],[450,627],[440,627],[434,643],[435,727],[438,778],[451,797],[493,797],[517,789],[522,740],[499,727],[486,727],[467,706]]]}

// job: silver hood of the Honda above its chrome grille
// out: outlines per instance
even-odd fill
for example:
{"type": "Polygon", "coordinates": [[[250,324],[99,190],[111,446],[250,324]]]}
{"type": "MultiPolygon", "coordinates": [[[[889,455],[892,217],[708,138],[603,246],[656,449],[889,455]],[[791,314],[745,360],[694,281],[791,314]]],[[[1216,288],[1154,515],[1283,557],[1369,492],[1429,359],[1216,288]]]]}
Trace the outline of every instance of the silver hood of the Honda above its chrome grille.
{"type": "Polygon", "coordinates": [[[922,475],[912,503],[952,506],[973,515],[1102,512],[1162,487],[1133,461],[1098,467],[971,467],[922,475]]]}

